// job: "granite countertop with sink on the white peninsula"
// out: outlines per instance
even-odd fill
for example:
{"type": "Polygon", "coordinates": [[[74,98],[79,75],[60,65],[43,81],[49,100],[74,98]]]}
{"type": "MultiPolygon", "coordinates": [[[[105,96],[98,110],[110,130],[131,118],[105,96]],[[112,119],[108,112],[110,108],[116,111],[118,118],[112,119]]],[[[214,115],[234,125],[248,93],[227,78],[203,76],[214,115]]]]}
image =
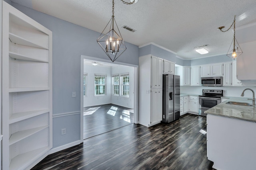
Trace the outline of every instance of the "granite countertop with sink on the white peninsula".
{"type": "Polygon", "coordinates": [[[205,111],[205,113],[256,122],[255,106],[240,106],[234,104],[226,104],[226,102],[228,101],[246,102],[252,104],[252,100],[248,100],[248,98],[229,97],[228,100],[208,109],[207,111],[205,111]]]}

